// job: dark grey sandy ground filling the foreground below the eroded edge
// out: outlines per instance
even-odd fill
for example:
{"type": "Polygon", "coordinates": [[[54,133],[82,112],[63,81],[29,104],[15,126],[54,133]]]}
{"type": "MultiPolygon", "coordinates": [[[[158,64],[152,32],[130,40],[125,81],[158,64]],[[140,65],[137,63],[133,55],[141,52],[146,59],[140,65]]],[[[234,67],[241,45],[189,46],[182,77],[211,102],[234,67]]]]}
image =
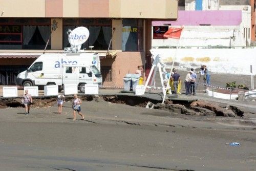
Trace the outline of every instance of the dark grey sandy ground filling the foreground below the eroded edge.
{"type": "Polygon", "coordinates": [[[256,116],[185,116],[100,100],[0,109],[0,170],[255,170],[256,116]],[[239,142],[240,146],[226,143],[239,142]]]}

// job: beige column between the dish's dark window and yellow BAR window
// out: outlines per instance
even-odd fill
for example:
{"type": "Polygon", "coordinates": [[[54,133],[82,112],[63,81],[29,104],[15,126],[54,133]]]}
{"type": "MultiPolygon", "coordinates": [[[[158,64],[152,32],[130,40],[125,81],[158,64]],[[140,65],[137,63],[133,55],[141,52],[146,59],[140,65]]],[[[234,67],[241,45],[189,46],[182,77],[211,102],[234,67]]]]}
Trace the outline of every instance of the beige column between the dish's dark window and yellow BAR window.
{"type": "Polygon", "coordinates": [[[122,19],[113,19],[112,28],[115,29],[112,38],[112,49],[122,50],[122,19]]]}

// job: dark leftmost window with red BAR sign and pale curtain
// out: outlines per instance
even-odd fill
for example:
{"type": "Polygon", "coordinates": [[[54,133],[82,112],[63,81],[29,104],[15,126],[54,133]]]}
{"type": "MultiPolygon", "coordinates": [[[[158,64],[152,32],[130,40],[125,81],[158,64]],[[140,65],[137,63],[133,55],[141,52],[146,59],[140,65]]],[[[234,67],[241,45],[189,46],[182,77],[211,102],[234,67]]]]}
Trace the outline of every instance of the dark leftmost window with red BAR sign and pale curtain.
{"type": "Polygon", "coordinates": [[[50,25],[50,18],[0,18],[0,49],[45,49],[50,25]]]}

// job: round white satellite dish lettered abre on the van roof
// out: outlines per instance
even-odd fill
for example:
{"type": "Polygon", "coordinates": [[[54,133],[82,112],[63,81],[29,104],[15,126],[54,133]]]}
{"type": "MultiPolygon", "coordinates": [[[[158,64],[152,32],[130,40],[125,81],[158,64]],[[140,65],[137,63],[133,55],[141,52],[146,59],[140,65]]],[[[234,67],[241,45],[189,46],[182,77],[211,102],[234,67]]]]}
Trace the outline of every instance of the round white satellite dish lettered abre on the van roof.
{"type": "Polygon", "coordinates": [[[77,27],[69,34],[69,42],[71,46],[82,45],[89,38],[89,30],[86,27],[77,27]]]}

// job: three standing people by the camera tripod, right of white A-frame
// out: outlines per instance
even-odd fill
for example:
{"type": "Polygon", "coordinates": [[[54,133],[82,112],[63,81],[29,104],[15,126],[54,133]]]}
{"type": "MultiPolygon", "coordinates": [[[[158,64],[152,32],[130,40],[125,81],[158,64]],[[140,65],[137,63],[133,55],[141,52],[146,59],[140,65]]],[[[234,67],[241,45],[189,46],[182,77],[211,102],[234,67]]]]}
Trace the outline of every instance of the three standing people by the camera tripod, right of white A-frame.
{"type": "MultiPolygon", "coordinates": [[[[207,69],[205,65],[201,67],[201,74],[204,75],[204,80],[207,85],[210,84],[210,72],[207,69]]],[[[170,76],[170,84],[173,83],[174,86],[174,94],[177,94],[178,90],[178,85],[181,82],[180,81],[180,74],[177,73],[176,69],[173,69],[173,72],[171,75],[167,73],[167,78],[170,76]]],[[[186,90],[186,95],[196,95],[196,89],[197,89],[197,74],[194,72],[194,69],[191,68],[188,74],[185,77],[185,90],[186,90]]]]}

